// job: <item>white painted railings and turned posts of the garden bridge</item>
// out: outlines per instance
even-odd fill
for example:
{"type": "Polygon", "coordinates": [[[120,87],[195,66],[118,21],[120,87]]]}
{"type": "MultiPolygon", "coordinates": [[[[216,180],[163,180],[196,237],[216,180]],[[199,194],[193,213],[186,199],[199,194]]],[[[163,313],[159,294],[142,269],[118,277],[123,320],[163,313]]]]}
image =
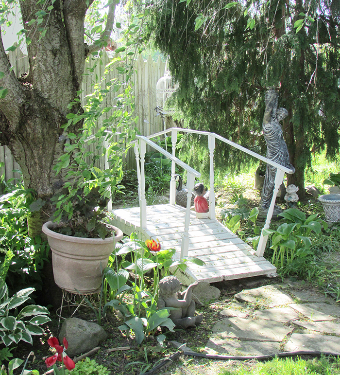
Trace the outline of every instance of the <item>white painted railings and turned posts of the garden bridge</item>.
{"type": "Polygon", "coordinates": [[[156,149],[158,152],[165,155],[167,158],[169,158],[172,161],[171,164],[171,181],[170,181],[170,204],[175,204],[175,196],[176,196],[176,182],[175,182],[175,165],[176,163],[180,165],[182,168],[184,168],[187,171],[187,214],[185,219],[185,232],[182,239],[182,245],[181,245],[181,257],[186,256],[188,252],[188,229],[189,229],[189,222],[190,222],[190,199],[191,199],[191,192],[193,190],[194,184],[195,184],[195,177],[200,177],[201,174],[191,167],[189,167],[187,164],[185,164],[183,161],[180,161],[178,158],[175,157],[176,152],[176,143],[177,143],[177,133],[186,132],[186,133],[195,133],[195,134],[201,134],[206,135],[208,137],[208,148],[209,148],[209,156],[210,156],[210,192],[209,192],[209,216],[210,219],[215,218],[215,192],[214,192],[214,150],[215,150],[215,140],[218,139],[224,143],[229,144],[232,147],[235,147],[246,154],[253,156],[254,158],[264,161],[267,164],[270,164],[276,168],[276,176],[275,176],[275,185],[273,190],[273,196],[272,201],[270,204],[270,207],[268,209],[267,218],[264,224],[264,227],[262,228],[260,239],[257,245],[256,249],[256,255],[257,256],[263,256],[268,235],[264,235],[263,231],[265,229],[269,229],[270,223],[272,220],[272,214],[274,211],[275,206],[275,200],[277,193],[279,191],[279,187],[282,184],[283,178],[285,173],[292,173],[292,171],[289,168],[286,168],[278,163],[275,163],[274,161],[267,159],[259,154],[257,154],[254,151],[248,150],[247,148],[240,146],[237,143],[234,143],[232,141],[227,140],[226,138],[221,137],[218,134],[210,133],[207,131],[200,131],[200,130],[192,130],[192,129],[182,129],[179,127],[172,127],[170,129],[155,133],[153,135],[150,135],[148,137],[142,137],[137,136],[139,139],[139,150],[140,150],[140,160],[139,160],[139,154],[138,154],[138,145],[135,143],[135,153],[136,153],[136,161],[137,161],[137,176],[138,176],[138,182],[139,182],[139,188],[138,188],[138,195],[139,195],[139,202],[140,202],[140,225],[143,229],[146,229],[146,200],[145,200],[145,176],[144,176],[144,156],[145,156],[145,146],[146,144],[151,145],[154,149],[156,149]],[[151,141],[152,138],[158,137],[163,134],[171,133],[171,144],[172,144],[172,155],[165,151],[160,146],[156,145],[151,141]],[[140,162],[140,164],[139,164],[140,162]],[[140,165],[140,168],[139,168],[140,165]]]}

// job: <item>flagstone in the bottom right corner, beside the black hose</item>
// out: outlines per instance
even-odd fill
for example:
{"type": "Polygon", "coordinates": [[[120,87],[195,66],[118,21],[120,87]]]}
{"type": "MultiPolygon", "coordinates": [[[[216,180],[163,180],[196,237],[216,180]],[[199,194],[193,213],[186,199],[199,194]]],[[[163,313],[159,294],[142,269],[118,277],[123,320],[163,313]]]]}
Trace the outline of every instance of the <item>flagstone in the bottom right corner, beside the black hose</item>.
{"type": "Polygon", "coordinates": [[[293,333],[285,345],[285,351],[295,352],[300,350],[322,351],[340,355],[340,337],[293,333]]]}

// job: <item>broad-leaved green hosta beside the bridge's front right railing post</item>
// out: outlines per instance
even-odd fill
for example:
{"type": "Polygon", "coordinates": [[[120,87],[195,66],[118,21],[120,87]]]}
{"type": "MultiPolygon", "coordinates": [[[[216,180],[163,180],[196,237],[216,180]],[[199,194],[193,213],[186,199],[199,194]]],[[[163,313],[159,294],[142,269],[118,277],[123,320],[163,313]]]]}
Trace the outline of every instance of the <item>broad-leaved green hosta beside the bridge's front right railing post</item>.
{"type": "Polygon", "coordinates": [[[278,269],[289,266],[296,258],[311,255],[311,232],[319,234],[322,228],[327,228],[326,222],[317,218],[318,214],[306,218],[306,214],[291,208],[279,215],[284,217],[286,222],[277,230],[263,231],[264,235],[272,235],[272,263],[278,269]]]}

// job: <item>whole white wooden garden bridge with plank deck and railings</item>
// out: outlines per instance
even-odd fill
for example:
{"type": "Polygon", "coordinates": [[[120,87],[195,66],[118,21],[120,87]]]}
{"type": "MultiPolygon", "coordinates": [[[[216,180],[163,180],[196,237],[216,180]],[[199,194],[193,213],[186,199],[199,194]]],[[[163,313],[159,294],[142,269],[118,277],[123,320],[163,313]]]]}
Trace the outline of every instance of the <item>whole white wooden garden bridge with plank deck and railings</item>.
{"type": "Polygon", "coordinates": [[[113,210],[113,225],[119,227],[125,234],[138,233],[139,238],[159,239],[163,249],[176,249],[178,257],[195,256],[205,262],[204,266],[197,266],[187,262],[186,274],[176,274],[183,283],[189,284],[194,280],[217,282],[221,280],[241,279],[244,277],[272,274],[276,268],[263,257],[267,236],[261,232],[257,249],[243,242],[236,234],[225,228],[215,218],[214,193],[214,149],[215,140],[225,142],[239,150],[269,163],[277,168],[272,202],[263,229],[269,228],[278,189],[283,181],[285,172],[291,173],[283,167],[245,147],[231,142],[218,134],[182,128],[170,128],[148,137],[137,136],[135,154],[138,177],[139,207],[113,210]],[[210,195],[209,218],[198,219],[194,211],[190,210],[191,192],[195,179],[201,174],[175,157],[177,132],[188,132],[208,137],[210,154],[210,195]],[[172,154],[155,144],[151,139],[171,133],[172,154]],[[169,204],[148,206],[145,198],[144,161],[146,145],[165,155],[172,161],[170,180],[169,204]],[[176,182],[175,165],[187,171],[187,208],[175,204],[176,182]]]}

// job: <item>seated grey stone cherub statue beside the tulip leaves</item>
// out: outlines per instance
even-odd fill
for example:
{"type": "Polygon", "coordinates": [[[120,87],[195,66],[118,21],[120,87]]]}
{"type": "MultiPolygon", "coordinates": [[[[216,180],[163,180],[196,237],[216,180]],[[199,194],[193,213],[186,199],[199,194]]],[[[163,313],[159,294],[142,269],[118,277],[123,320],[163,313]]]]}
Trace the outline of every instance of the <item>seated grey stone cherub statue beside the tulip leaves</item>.
{"type": "Polygon", "coordinates": [[[196,305],[192,300],[192,290],[198,284],[199,281],[196,281],[181,292],[182,283],[176,276],[166,276],[159,282],[157,308],[176,307],[170,310],[170,319],[176,328],[186,329],[201,323],[202,315],[195,316],[196,305]]]}

